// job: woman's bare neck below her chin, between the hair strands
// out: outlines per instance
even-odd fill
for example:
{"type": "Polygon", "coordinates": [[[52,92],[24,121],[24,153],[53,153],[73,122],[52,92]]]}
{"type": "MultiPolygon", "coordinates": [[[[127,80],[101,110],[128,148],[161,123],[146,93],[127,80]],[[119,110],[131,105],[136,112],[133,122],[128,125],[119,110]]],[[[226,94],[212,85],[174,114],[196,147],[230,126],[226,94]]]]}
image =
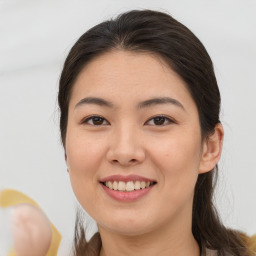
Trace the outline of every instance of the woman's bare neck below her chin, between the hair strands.
{"type": "Polygon", "coordinates": [[[200,249],[190,230],[162,227],[158,231],[136,236],[116,234],[99,227],[102,249],[100,256],[199,256],[200,249]]]}

